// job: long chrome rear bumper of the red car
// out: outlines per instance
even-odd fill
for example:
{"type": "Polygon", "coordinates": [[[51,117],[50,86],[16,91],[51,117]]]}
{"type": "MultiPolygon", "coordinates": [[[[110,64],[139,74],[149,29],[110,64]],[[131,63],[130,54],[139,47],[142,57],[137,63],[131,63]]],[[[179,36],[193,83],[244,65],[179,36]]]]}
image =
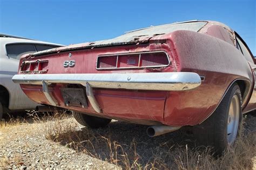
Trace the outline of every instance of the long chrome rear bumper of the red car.
{"type": "Polygon", "coordinates": [[[69,83],[86,84],[106,89],[185,91],[201,84],[193,72],[154,73],[91,73],[91,74],[16,74],[12,81],[18,84],[69,83]]]}

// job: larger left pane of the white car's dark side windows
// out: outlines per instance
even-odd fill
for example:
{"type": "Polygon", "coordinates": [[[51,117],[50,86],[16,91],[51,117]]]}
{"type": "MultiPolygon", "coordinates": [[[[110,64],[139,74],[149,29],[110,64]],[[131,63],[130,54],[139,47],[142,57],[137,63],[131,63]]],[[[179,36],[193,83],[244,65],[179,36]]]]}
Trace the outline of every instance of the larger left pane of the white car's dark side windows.
{"type": "Polygon", "coordinates": [[[36,52],[36,49],[33,44],[7,44],[6,52],[8,57],[19,59],[25,53],[36,52]]]}

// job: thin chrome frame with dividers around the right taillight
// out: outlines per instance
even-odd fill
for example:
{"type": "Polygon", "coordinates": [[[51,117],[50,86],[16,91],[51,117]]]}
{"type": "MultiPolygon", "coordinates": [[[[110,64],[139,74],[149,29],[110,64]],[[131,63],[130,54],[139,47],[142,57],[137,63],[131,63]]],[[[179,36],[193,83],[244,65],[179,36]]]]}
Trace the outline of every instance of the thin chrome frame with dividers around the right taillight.
{"type": "Polygon", "coordinates": [[[117,69],[143,69],[143,68],[157,68],[157,67],[166,67],[169,66],[171,64],[171,60],[169,55],[167,54],[167,52],[165,51],[148,51],[148,52],[131,52],[131,53],[117,53],[117,54],[111,54],[111,55],[99,55],[97,57],[97,61],[96,61],[96,69],[97,70],[117,70],[117,69]],[[133,66],[133,67],[117,67],[118,64],[118,56],[124,56],[124,55],[136,55],[139,54],[139,64],[140,64],[140,54],[144,54],[144,53],[157,53],[157,52],[164,52],[166,54],[166,57],[168,59],[168,64],[167,65],[158,65],[158,66],[144,66],[144,67],[139,67],[139,66],[133,66]],[[117,56],[117,62],[116,62],[116,67],[111,67],[111,68],[98,68],[98,59],[99,57],[107,57],[107,56],[117,56]]]}

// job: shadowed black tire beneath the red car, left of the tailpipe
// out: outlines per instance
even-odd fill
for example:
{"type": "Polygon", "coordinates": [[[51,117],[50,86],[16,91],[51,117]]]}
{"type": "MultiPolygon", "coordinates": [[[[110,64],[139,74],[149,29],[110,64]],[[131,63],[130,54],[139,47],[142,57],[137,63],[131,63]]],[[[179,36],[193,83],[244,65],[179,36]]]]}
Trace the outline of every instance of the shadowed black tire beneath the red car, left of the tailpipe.
{"type": "Polygon", "coordinates": [[[79,112],[73,112],[73,115],[79,124],[91,128],[105,127],[111,121],[111,119],[94,117],[79,112]]]}

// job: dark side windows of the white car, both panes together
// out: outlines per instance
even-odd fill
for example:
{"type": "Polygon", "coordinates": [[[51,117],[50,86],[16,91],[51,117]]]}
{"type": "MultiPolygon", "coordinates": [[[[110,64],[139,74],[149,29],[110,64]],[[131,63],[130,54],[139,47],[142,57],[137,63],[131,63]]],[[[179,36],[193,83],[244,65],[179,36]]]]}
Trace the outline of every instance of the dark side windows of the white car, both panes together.
{"type": "Polygon", "coordinates": [[[48,50],[56,48],[58,46],[47,45],[47,44],[6,44],[6,52],[8,57],[19,59],[26,53],[34,53],[37,51],[48,50]]]}

